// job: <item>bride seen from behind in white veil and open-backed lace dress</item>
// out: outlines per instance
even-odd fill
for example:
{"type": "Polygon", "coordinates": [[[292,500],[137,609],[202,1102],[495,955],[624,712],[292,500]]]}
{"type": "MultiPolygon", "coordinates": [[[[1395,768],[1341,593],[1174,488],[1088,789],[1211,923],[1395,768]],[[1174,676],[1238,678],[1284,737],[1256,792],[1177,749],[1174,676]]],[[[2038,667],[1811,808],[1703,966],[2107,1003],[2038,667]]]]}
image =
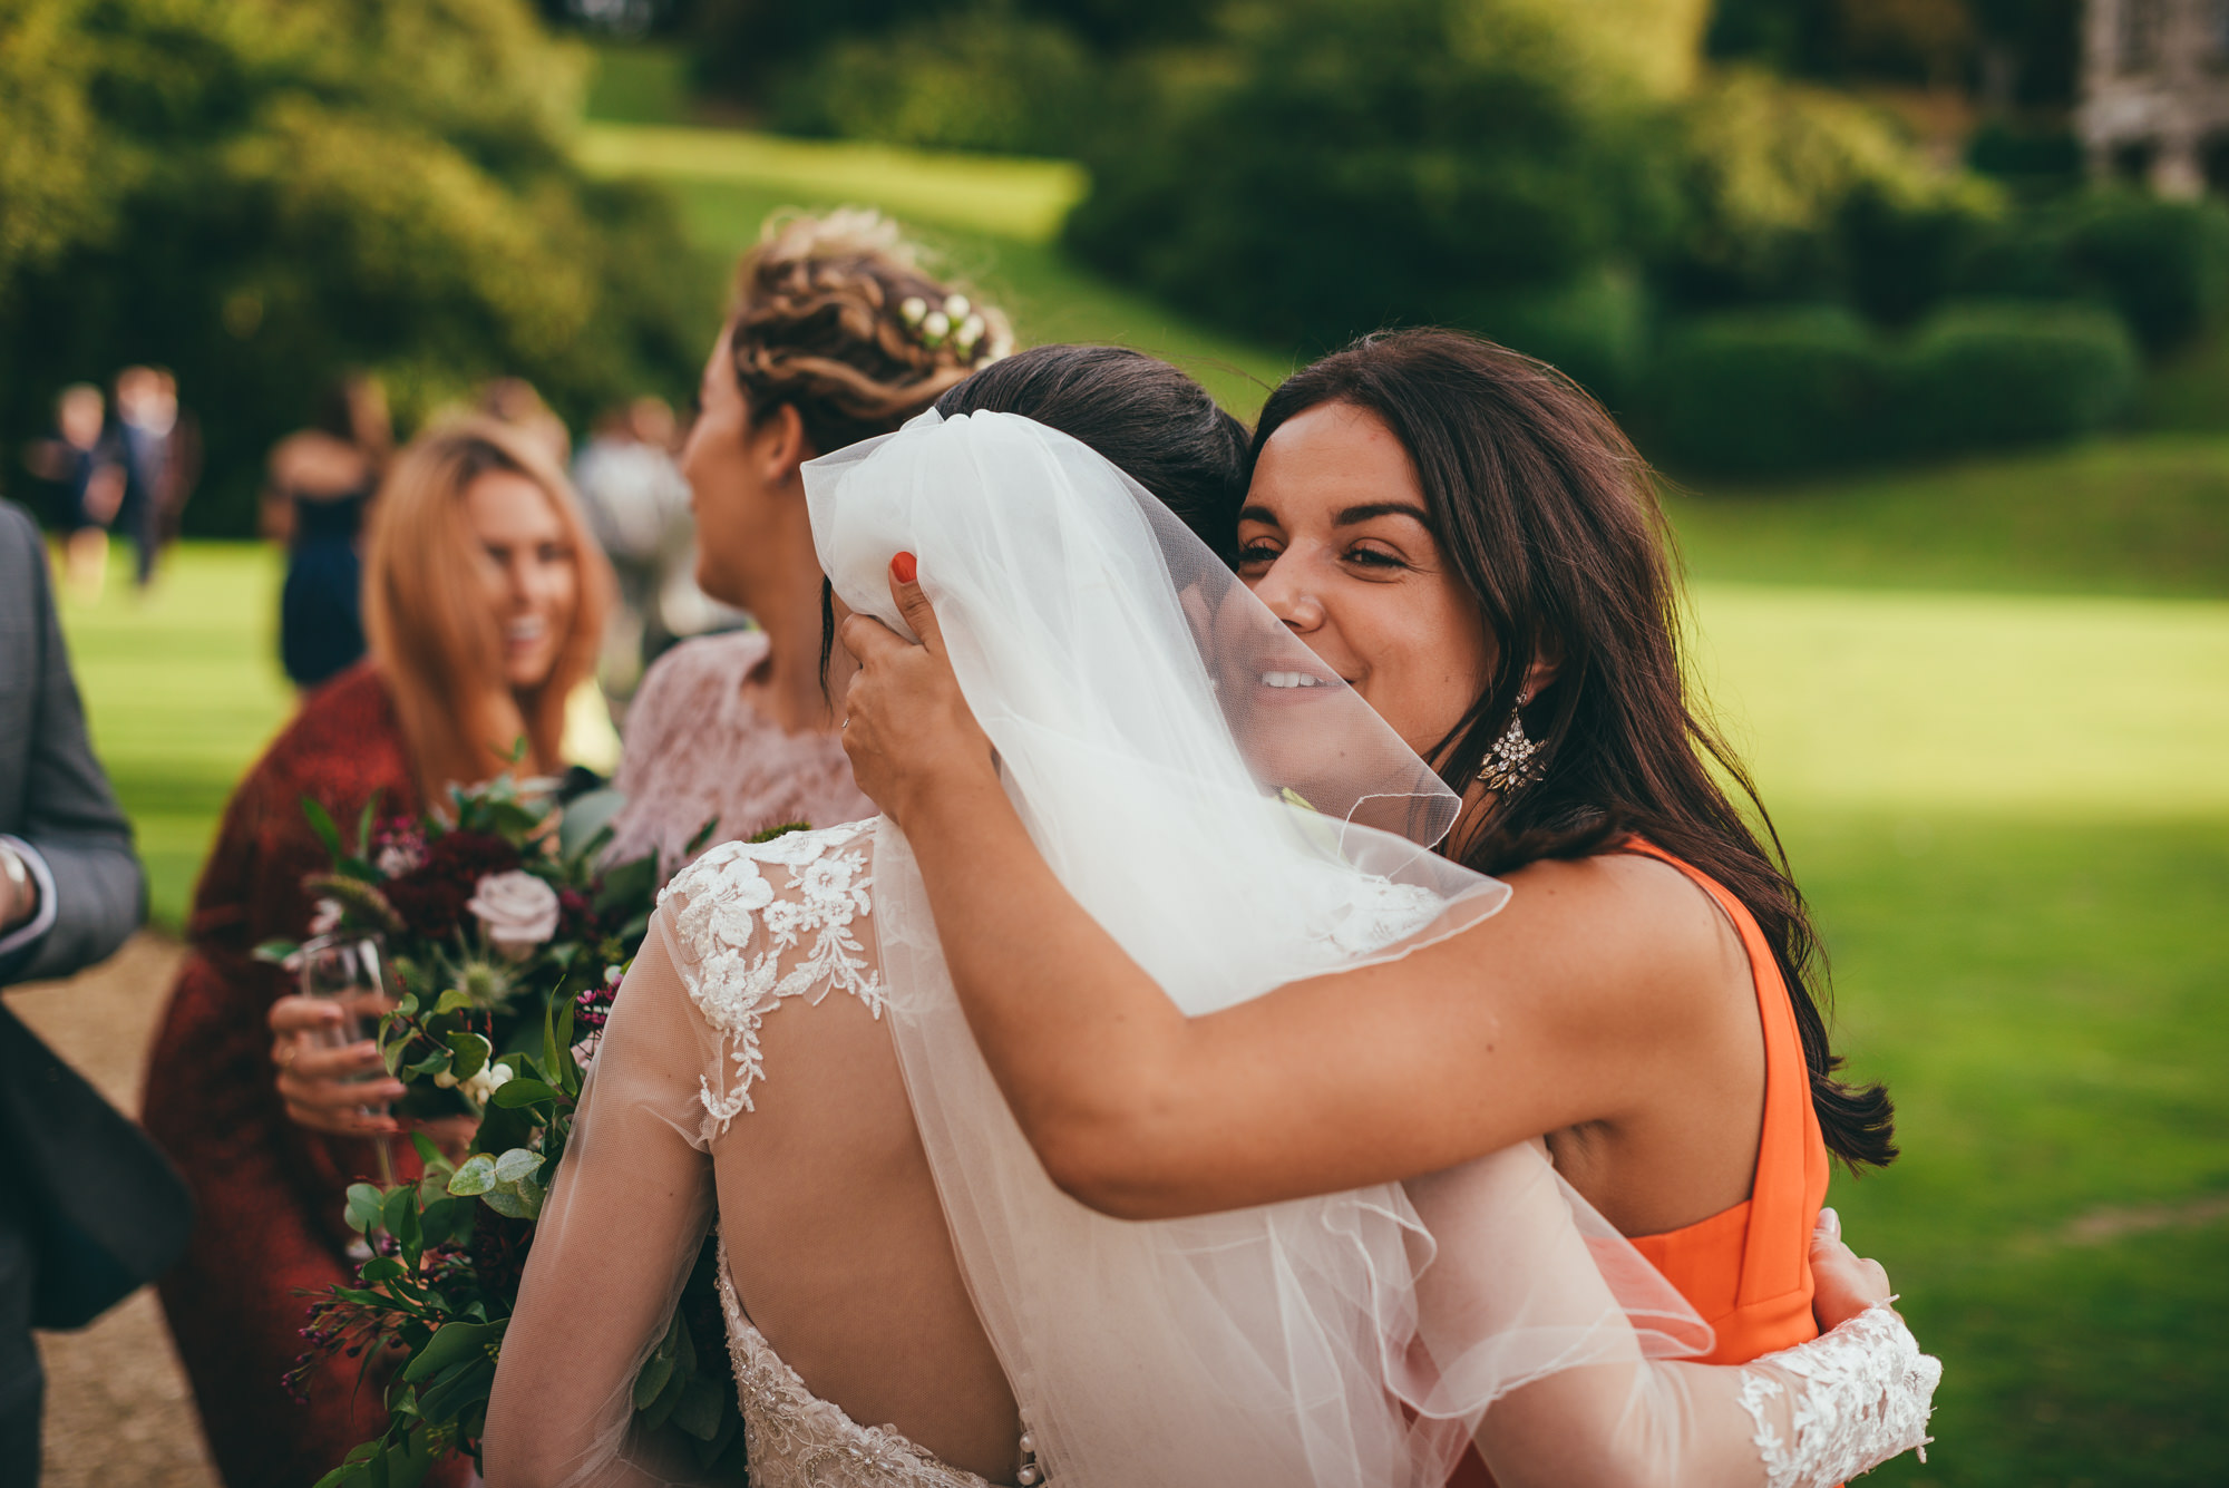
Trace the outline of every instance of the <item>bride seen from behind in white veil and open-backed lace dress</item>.
{"type": "MultiPolygon", "coordinates": [[[[1121,953],[1197,1016],[1493,916],[1502,884],[1427,851],[1456,797],[1353,693],[1226,715],[1219,675],[1306,650],[1030,412],[816,461],[816,546],[885,619],[889,555],[936,566],[1008,793],[1121,953]]],[[[1919,1439],[1935,1377],[1875,1296],[1750,1368],[1663,1361],[1707,1328],[1536,1145],[1224,1214],[1086,1210],[976,1054],[887,820],[669,887],[504,1341],[490,1484],[680,1477],[629,1403],[711,1223],[762,1488],[1427,1486],[1467,1439],[1505,1484],[1832,1484],[1919,1439]]]]}

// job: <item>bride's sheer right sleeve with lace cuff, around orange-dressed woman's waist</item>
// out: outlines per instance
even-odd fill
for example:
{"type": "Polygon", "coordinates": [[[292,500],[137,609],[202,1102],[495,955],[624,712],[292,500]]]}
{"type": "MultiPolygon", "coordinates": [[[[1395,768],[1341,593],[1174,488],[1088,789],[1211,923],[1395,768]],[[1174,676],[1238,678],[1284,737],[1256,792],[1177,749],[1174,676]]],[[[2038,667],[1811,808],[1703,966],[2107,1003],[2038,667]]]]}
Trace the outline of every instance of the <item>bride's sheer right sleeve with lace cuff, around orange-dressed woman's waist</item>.
{"type": "Polygon", "coordinates": [[[1398,1383],[1471,1426],[1500,1488],[1832,1488],[1928,1439],[1941,1363],[1886,1305],[1745,1365],[1687,1363],[1661,1276],[1536,1147],[1404,1187],[1438,1256],[1398,1383]],[[1554,1372],[1491,1394],[1527,1341],[1560,1343],[1531,1350],[1554,1372]]]}

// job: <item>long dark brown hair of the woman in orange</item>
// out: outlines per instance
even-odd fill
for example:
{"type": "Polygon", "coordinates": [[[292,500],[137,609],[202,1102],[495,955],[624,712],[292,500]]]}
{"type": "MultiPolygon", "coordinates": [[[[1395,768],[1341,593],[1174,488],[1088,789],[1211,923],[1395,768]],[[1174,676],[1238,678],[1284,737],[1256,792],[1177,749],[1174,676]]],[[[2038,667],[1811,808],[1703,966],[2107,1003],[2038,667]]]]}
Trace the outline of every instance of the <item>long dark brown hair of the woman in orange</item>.
{"type": "Polygon", "coordinates": [[[1447,330],[1364,336],[1288,379],[1253,450],[1320,403],[1378,414],[1406,446],[1438,541],[1498,644],[1493,679],[1433,751],[1462,791],[1509,726],[1534,657],[1556,679],[1522,706],[1545,775],[1505,791],[1453,853],[1482,873],[1618,851],[1638,833],[1723,884],[1756,918],[1788,980],[1828,1149],[1857,1167],[1897,1156],[1881,1085],[1837,1078],[1814,987],[1823,956],[1772,818],[1741,760],[1687,702],[1681,588],[1647,463],[1567,376],[1447,330]],[[1756,809],[1772,851],[1712,766],[1756,809]]]}

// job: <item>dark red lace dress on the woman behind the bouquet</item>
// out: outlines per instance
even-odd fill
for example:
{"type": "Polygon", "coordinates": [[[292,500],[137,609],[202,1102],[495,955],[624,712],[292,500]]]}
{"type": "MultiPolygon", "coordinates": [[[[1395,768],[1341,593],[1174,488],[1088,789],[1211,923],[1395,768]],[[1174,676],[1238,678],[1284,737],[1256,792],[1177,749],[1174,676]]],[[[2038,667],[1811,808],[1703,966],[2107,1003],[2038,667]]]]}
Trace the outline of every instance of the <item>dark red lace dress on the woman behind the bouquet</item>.
{"type": "MultiPolygon", "coordinates": [[[[370,662],[312,693],[234,791],[194,893],[189,956],[147,1069],[147,1132],[194,1190],[194,1241],[163,1279],[163,1310],[194,1383],[227,1488],[303,1488],[386,1426],[379,1381],[361,1359],[332,1359],[294,1403],[281,1377],[303,1352],[308,1301],[354,1272],[343,1190],[374,1172],[372,1145],[308,1132],[272,1087],[265,1011],[285,976],[254,960],[263,940],[299,940],[310,922],[303,873],[328,855],[303,820],[317,797],[343,831],[379,793],[379,811],[419,811],[401,728],[370,662]]],[[[397,1152],[415,1174],[415,1154],[397,1152]]],[[[435,1470],[461,1484],[464,1466],[435,1470]]]]}

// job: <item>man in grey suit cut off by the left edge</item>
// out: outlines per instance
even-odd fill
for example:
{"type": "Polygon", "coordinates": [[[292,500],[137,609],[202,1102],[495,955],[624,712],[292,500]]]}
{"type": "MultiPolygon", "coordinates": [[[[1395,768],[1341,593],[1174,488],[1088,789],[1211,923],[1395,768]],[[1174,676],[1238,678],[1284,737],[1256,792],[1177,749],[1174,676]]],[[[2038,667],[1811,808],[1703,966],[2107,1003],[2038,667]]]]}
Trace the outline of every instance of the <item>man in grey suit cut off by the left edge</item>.
{"type": "MultiPolygon", "coordinates": [[[[0,987],[107,958],[143,902],[132,824],[85,740],[45,544],[0,501],[0,987]]],[[[38,1481],[31,1328],[91,1321],[167,1263],[185,1221],[138,1129],[0,1005],[0,1484],[38,1481]]]]}

